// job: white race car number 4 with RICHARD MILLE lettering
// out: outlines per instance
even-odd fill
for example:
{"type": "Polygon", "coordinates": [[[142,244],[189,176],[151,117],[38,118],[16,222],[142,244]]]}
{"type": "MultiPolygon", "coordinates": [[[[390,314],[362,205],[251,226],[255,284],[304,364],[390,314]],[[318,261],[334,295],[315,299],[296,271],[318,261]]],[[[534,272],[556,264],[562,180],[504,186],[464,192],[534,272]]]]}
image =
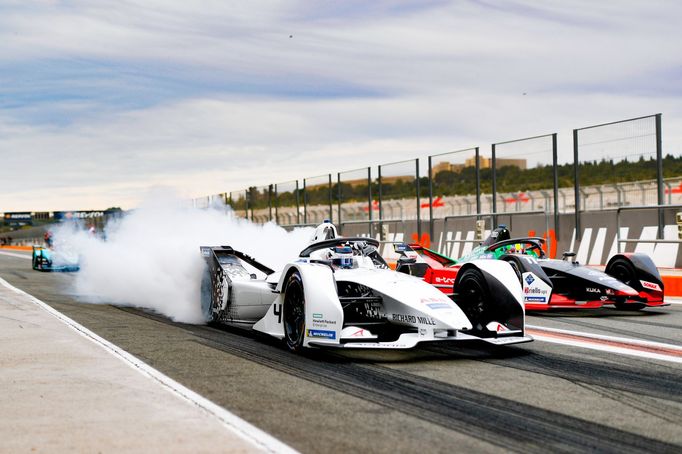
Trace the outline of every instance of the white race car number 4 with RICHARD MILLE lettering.
{"type": "Polygon", "coordinates": [[[201,285],[204,315],[283,339],[292,351],[532,340],[525,334],[521,284],[508,263],[463,265],[449,298],[389,269],[378,246],[371,238],[339,237],[325,222],[299,257],[277,272],[229,246],[202,246],[208,264],[201,285]]]}

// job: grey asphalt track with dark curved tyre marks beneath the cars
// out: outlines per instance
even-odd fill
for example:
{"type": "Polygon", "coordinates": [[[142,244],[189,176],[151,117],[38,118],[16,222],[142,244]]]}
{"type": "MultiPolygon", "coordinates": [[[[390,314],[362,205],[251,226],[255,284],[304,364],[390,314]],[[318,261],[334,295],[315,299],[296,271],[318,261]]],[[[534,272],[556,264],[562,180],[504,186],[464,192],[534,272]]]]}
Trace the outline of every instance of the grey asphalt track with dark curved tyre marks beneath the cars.
{"type": "Polygon", "coordinates": [[[677,302],[528,314],[535,341],[511,347],[296,355],[249,331],[88,304],[72,274],[33,271],[29,253],[0,251],[0,278],[304,453],[682,451],[677,302]]]}

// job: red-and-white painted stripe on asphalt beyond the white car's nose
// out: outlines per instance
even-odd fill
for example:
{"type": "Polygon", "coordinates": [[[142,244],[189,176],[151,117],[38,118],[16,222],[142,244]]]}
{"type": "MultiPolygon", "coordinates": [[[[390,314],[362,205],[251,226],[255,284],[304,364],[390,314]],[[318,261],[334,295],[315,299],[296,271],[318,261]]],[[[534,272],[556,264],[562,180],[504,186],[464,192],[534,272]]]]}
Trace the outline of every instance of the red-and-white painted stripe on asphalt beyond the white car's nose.
{"type": "Polygon", "coordinates": [[[542,342],[682,364],[682,347],[678,345],[535,325],[526,327],[535,340],[542,342]]]}

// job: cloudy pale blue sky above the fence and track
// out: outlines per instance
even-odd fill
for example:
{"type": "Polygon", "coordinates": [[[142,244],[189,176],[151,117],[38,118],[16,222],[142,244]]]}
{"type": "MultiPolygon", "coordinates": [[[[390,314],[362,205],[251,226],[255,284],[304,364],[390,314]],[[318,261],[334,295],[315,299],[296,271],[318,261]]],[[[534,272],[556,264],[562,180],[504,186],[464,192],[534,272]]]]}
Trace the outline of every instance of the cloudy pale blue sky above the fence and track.
{"type": "Polygon", "coordinates": [[[676,0],[0,0],[0,212],[554,132],[566,162],[573,128],[655,113],[680,155],[681,22],[676,0]]]}

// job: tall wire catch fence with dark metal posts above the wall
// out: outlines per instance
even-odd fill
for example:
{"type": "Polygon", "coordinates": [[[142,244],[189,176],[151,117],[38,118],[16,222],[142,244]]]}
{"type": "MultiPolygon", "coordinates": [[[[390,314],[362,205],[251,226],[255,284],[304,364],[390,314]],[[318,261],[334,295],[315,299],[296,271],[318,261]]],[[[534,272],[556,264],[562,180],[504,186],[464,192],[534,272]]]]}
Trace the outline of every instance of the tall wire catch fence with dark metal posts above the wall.
{"type": "MultiPolygon", "coordinates": [[[[431,237],[434,224],[449,216],[486,213],[496,223],[501,215],[543,211],[558,233],[559,215],[574,213],[580,235],[583,212],[682,203],[682,156],[664,156],[661,135],[656,114],[574,129],[573,153],[559,150],[559,134],[550,133],[432,154],[421,172],[420,160],[410,159],[233,191],[225,199],[236,215],[256,222],[330,219],[372,233],[382,223],[414,221],[420,236],[426,222],[431,237]]],[[[195,205],[210,204],[199,200],[195,205]]],[[[660,236],[662,215],[658,223],[660,236]]]]}

